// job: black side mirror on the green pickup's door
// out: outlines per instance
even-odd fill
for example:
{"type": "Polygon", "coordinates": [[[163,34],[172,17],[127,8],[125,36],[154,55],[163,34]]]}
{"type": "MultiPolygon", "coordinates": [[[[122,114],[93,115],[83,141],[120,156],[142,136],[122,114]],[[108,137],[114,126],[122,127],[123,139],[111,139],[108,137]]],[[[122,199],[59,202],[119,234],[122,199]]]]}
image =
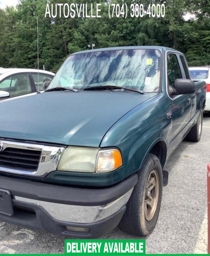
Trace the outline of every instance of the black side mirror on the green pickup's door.
{"type": "Polygon", "coordinates": [[[190,94],[195,92],[195,83],[189,79],[176,79],[173,89],[174,94],[190,94]]]}

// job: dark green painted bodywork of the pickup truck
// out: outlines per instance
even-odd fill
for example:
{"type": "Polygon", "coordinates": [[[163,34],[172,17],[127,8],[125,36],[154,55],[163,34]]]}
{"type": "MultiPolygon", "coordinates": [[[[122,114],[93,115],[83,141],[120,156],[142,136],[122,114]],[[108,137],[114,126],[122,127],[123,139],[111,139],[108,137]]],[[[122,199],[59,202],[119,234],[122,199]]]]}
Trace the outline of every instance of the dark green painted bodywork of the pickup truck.
{"type": "MultiPolygon", "coordinates": [[[[166,92],[165,54],[174,50],[154,46],[129,48],[150,48],[162,52],[162,87],[159,93],[44,92],[0,103],[1,138],[61,145],[118,147],[122,152],[123,166],[111,173],[53,171],[44,179],[34,180],[75,186],[111,186],[136,172],[159,141],[162,148],[158,151],[162,151],[161,164],[164,166],[197,121],[205,98],[205,83],[196,82],[195,93],[180,95],[172,100],[166,92]],[[183,106],[184,113],[180,114],[183,106]],[[170,111],[172,118],[168,119],[167,113],[170,111]]],[[[174,53],[180,54],[177,51],[174,53]]]]}

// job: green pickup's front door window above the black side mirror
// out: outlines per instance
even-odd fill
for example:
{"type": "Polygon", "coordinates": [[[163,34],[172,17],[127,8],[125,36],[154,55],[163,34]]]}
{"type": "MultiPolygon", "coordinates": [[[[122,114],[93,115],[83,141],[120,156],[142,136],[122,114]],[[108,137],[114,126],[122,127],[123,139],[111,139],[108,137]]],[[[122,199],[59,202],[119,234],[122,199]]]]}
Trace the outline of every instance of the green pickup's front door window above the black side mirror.
{"type": "Polygon", "coordinates": [[[167,75],[169,87],[172,87],[176,79],[182,78],[179,68],[179,62],[175,54],[167,55],[167,75]]]}

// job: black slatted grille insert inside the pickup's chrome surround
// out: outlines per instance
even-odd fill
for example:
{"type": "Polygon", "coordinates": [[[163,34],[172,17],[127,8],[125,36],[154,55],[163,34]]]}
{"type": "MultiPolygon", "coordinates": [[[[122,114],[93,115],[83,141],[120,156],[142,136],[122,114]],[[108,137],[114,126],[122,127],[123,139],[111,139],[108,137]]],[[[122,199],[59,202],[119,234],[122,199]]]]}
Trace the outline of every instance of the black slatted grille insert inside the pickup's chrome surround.
{"type": "Polygon", "coordinates": [[[41,153],[40,150],[7,147],[0,152],[0,165],[33,172],[38,168],[41,153]]]}

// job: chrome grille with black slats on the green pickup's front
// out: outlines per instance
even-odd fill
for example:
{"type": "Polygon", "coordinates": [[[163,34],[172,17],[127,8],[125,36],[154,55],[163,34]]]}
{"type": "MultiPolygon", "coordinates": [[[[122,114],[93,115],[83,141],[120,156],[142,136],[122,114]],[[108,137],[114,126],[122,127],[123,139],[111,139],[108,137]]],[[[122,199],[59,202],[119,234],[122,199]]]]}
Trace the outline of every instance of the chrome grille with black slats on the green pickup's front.
{"type": "Polygon", "coordinates": [[[0,139],[0,172],[45,177],[57,169],[65,146],[0,139]]]}

